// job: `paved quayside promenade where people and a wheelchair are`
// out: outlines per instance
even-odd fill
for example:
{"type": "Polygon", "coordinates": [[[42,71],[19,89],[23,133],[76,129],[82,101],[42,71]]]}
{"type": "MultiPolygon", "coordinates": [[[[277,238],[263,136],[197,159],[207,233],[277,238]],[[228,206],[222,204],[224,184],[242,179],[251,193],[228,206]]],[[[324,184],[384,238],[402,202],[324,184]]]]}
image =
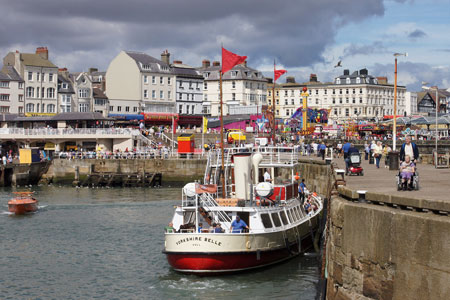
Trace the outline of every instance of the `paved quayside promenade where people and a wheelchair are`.
{"type": "MultiPolygon", "coordinates": [[[[343,158],[334,159],[340,169],[345,169],[343,158]]],[[[433,165],[418,164],[418,191],[397,191],[395,176],[398,171],[389,171],[384,167],[384,157],[380,161],[380,168],[362,157],[364,176],[345,176],[347,187],[353,190],[367,190],[369,192],[398,195],[403,197],[443,200],[450,202],[450,169],[436,169],[433,165]]]]}

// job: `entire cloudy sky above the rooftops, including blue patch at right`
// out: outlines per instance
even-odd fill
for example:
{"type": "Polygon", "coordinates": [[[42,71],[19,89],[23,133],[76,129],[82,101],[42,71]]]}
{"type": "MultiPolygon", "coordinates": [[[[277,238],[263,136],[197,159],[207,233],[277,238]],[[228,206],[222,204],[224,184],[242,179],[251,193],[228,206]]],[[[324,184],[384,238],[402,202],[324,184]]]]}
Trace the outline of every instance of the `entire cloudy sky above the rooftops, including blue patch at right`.
{"type": "MultiPolygon", "coordinates": [[[[450,87],[448,0],[0,0],[0,55],[47,46],[71,71],[106,70],[121,50],[199,66],[220,46],[271,76],[273,61],[298,82],[369,69],[399,84],[450,87]],[[343,68],[334,68],[342,60],[343,68]]],[[[284,80],[284,77],[280,79],[284,80]]]]}

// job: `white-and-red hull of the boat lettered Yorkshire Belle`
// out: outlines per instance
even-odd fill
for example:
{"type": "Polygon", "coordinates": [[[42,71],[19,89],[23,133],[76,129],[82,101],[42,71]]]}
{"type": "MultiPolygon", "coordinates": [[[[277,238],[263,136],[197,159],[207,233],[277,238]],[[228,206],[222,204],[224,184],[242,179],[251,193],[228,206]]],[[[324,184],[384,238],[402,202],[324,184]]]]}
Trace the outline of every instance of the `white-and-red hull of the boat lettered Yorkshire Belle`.
{"type": "MultiPolygon", "coordinates": [[[[318,225],[317,217],[311,219],[312,228],[318,225]]],[[[284,232],[261,234],[167,234],[164,253],[178,272],[218,274],[276,264],[297,256],[312,244],[306,222],[284,232]],[[202,251],[193,250],[196,248],[202,251]]]]}

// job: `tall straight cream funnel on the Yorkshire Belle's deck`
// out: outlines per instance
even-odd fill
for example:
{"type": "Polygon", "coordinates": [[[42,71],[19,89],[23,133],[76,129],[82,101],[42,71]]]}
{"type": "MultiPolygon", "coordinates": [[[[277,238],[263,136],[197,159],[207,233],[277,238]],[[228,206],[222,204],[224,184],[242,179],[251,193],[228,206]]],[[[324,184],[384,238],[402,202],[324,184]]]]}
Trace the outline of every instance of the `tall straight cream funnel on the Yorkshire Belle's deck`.
{"type": "Polygon", "coordinates": [[[250,155],[251,153],[238,153],[233,156],[234,159],[234,182],[236,198],[250,199],[250,155]]]}

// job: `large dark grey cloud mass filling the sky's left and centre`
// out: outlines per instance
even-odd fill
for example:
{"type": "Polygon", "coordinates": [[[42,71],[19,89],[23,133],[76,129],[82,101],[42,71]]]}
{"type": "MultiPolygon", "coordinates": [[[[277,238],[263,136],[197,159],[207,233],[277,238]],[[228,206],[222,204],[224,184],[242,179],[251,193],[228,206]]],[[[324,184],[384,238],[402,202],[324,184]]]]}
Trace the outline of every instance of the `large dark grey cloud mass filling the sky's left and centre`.
{"type": "Polygon", "coordinates": [[[106,69],[124,49],[153,56],[169,49],[199,65],[217,57],[222,42],[254,66],[273,58],[308,66],[323,61],[341,26],[384,13],[383,0],[0,0],[0,7],[8,24],[0,27],[0,55],[47,46],[77,71],[106,69]]]}

